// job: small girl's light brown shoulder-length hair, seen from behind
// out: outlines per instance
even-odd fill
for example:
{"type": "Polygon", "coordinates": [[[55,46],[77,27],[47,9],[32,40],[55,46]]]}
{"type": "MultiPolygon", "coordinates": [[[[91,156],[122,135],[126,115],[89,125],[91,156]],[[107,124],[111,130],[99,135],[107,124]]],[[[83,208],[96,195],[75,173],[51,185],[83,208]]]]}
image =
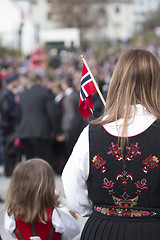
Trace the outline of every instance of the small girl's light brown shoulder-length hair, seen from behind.
{"type": "Polygon", "coordinates": [[[52,167],[42,159],[19,163],[13,171],[5,206],[9,216],[32,223],[48,220],[46,208],[55,208],[55,178],[52,167]]]}

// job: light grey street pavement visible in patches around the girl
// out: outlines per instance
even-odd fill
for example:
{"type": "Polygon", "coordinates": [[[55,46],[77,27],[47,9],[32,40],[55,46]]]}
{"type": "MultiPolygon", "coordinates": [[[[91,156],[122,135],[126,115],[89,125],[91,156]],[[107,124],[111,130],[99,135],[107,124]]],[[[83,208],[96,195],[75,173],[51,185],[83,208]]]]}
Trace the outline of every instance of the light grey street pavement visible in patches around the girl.
{"type": "MultiPolygon", "coordinates": [[[[10,178],[5,177],[3,175],[0,176],[0,197],[2,199],[5,199],[9,183],[10,183],[10,178]]],[[[64,190],[63,190],[63,185],[62,185],[60,175],[56,175],[56,186],[60,189],[62,197],[64,197],[64,190]]],[[[83,227],[86,221],[86,218],[79,218],[79,221],[81,226],[83,227]]],[[[11,238],[5,232],[3,225],[4,225],[4,204],[0,203],[0,234],[1,234],[2,240],[12,240],[13,238],[11,238]]],[[[79,240],[79,239],[80,239],[79,235],[76,238],[74,238],[74,240],[79,240]]]]}

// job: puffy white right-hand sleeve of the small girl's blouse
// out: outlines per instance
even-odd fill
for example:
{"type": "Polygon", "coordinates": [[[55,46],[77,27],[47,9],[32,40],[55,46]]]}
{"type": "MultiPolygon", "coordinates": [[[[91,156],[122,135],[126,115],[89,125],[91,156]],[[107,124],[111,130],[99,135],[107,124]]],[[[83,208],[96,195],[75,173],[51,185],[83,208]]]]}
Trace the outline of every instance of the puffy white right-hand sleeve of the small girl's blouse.
{"type": "Polygon", "coordinates": [[[58,207],[52,213],[52,225],[55,232],[62,234],[62,240],[71,240],[80,233],[80,224],[66,207],[58,207]]]}

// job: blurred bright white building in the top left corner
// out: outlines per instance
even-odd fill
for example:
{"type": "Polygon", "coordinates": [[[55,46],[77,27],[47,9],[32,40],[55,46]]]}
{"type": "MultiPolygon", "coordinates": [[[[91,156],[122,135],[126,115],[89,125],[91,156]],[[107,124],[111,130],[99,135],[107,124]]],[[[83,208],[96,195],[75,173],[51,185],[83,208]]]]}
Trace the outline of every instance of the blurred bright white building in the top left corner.
{"type": "Polygon", "coordinates": [[[2,46],[22,49],[28,54],[34,49],[34,29],[23,9],[12,0],[1,0],[0,41],[2,46]]]}

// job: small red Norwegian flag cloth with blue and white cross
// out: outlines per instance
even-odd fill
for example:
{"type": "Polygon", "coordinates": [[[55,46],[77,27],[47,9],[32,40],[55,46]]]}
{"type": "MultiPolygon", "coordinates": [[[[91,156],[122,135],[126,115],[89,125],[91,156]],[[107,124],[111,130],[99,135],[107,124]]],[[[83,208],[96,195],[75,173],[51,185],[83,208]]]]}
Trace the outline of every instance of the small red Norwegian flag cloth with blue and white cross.
{"type": "Polygon", "coordinates": [[[83,116],[84,120],[93,113],[93,101],[91,94],[95,92],[97,92],[97,89],[85,64],[83,63],[79,112],[83,116]]]}

